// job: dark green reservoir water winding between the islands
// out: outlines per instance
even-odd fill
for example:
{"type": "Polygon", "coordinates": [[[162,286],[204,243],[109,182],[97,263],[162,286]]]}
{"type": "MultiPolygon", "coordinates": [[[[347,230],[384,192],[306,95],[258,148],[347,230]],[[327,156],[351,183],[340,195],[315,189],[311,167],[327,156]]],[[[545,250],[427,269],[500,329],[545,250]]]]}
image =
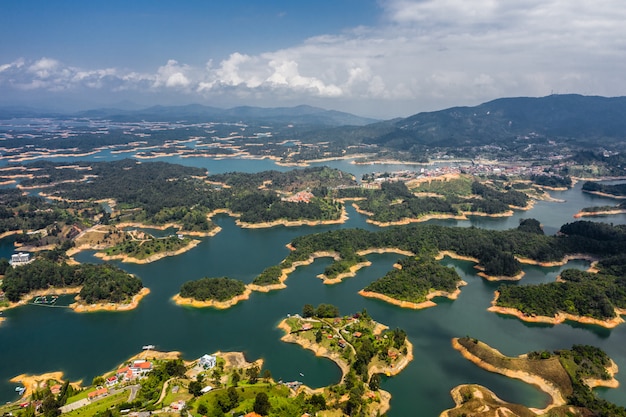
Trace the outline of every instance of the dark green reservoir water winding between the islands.
{"type": "MultiPolygon", "coordinates": [[[[212,172],[242,170],[243,164],[248,172],[273,167],[268,161],[238,160],[230,165],[219,161],[216,168],[210,165],[210,160],[202,161],[212,172]]],[[[333,166],[353,172],[355,168],[343,161],[333,166]]],[[[359,169],[380,170],[379,167],[359,169]]],[[[547,233],[554,233],[561,224],[572,221],[572,215],[581,207],[610,201],[584,195],[579,186],[555,192],[553,196],[567,202],[540,202],[531,211],[507,219],[475,218],[440,223],[501,229],[517,226],[520,218],[534,217],[544,224],[547,233]]],[[[15,375],[61,370],[72,380],[89,383],[95,375],[112,369],[145,344],[154,344],[160,350],[181,351],[186,359],[217,350],[244,351],[249,359],[263,358],[265,367],[276,379],[299,379],[314,387],[331,384],[338,380],[339,369],[296,345],[280,342],[281,332],[276,329],[287,313],[300,312],[305,303],[322,302],[338,305],[346,314],[366,308],[377,321],[407,331],[414,345],[415,360],[400,375],[383,381],[383,388],[393,395],[390,416],[415,415],[415,410],[419,410],[420,416],[436,416],[453,405],[450,389],[463,383],[480,383],[508,401],[535,407],[545,404],[547,397],[532,386],[483,371],[463,359],[450,344],[458,336],[477,337],[508,355],[567,348],[573,343],[593,344],[606,350],[626,369],[623,349],[626,325],[614,330],[577,324],[532,325],[489,313],[486,309],[498,284],[477,277],[471,263],[448,258],[442,262],[454,266],[468,285],[458,300],[442,300],[437,307],[421,311],[400,309],[357,294],[392,267],[398,259],[394,254],[370,255],[371,267],[333,286],[325,286],[316,278],[330,261],[317,260],[298,268],[287,280],[287,289],[254,293],[250,300],[226,311],[182,308],[170,301],[183,282],[203,276],[252,281],[264,268],[280,262],[288,253],[285,245],[298,235],[345,227],[375,229],[352,208],[349,215],[345,225],[271,229],[240,229],[233,219],[218,217],[216,222],[223,230],[203,239],[187,253],[148,265],[120,264],[141,277],[151,289],[140,306],[130,312],[77,314],[68,309],[37,306],[4,312],[8,320],[0,326],[0,400],[16,398],[14,385],[8,383],[15,375]],[[300,377],[299,373],[305,376],[300,377]]],[[[606,220],[626,223],[626,216],[606,220]]],[[[0,241],[0,256],[10,253],[10,241],[0,241]]],[[[82,262],[98,262],[88,252],[77,258],[82,262]]],[[[586,266],[585,262],[567,265],[586,266]]],[[[562,269],[526,267],[521,284],[552,281],[562,269]]],[[[604,390],[601,394],[626,405],[626,388],[604,390]]]]}

